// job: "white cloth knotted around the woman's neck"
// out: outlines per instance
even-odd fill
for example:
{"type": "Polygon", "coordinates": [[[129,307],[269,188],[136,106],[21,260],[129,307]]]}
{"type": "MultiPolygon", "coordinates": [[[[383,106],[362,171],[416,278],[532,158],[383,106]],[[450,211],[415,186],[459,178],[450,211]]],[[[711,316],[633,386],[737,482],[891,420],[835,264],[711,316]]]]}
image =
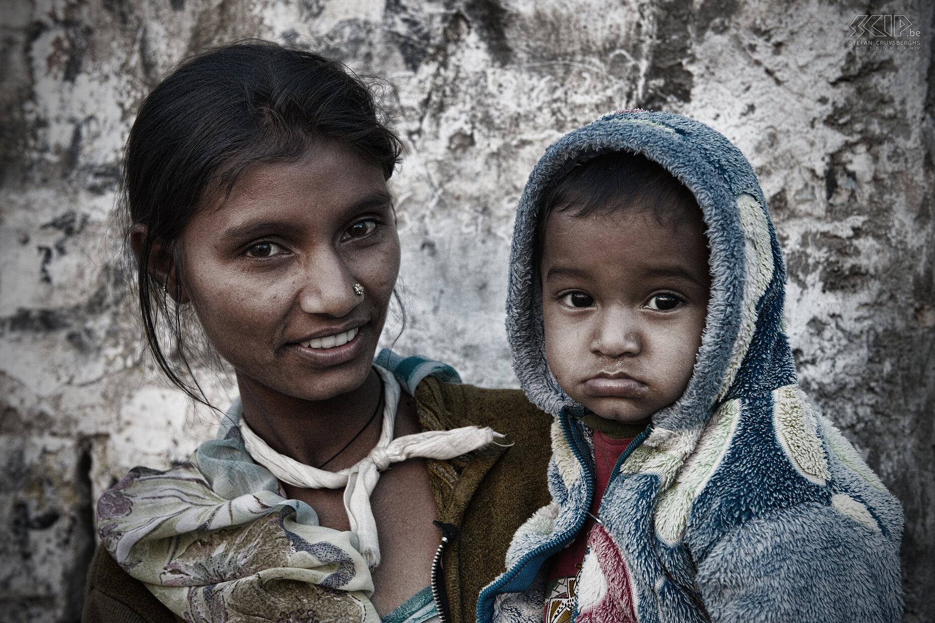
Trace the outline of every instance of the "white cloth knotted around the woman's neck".
{"type": "Polygon", "coordinates": [[[374,569],[380,564],[380,543],[377,522],[370,508],[370,494],[380,480],[380,472],[392,463],[413,456],[445,460],[482,448],[504,435],[491,427],[461,427],[452,430],[428,430],[393,439],[396,424],[396,405],[399,403],[399,383],[393,373],[374,366],[383,380],[383,426],[380,440],[356,465],[341,471],[327,471],[300,463],[295,458],[281,455],[257,437],[241,417],[238,426],[244,445],[253,460],[271,471],[283,483],[309,489],[338,489],[344,487],[344,510],[347,511],[351,530],[360,542],[360,552],[367,566],[374,569]]]}

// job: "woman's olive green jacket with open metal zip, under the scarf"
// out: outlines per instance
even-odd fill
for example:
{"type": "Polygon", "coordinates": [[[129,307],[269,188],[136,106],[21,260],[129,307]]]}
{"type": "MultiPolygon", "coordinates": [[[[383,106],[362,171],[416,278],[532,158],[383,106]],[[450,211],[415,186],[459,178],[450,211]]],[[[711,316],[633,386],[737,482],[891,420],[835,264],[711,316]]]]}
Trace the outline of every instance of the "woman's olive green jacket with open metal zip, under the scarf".
{"type": "MultiPolygon", "coordinates": [[[[513,533],[549,502],[546,469],[552,455],[552,418],[523,392],[441,383],[426,377],[415,401],[424,430],[489,426],[507,435],[509,447],[490,445],[467,456],[429,459],[438,520],[457,532],[442,553],[447,623],[473,623],[481,588],[504,571],[513,533]]],[[[138,580],[102,548],[88,571],[83,623],[176,623],[138,580]]]]}

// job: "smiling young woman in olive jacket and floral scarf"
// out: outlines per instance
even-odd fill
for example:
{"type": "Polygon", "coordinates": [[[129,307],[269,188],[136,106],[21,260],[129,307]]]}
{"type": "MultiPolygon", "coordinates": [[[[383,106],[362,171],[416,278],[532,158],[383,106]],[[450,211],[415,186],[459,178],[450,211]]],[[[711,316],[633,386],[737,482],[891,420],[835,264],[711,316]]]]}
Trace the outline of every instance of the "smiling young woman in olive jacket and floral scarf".
{"type": "Polygon", "coordinates": [[[142,325],[204,399],[194,312],[239,398],[188,462],[101,497],[86,623],[473,620],[548,501],[550,422],[435,362],[374,364],[399,153],[367,85],[275,44],[203,53],[144,102],[123,201],[142,325]]]}

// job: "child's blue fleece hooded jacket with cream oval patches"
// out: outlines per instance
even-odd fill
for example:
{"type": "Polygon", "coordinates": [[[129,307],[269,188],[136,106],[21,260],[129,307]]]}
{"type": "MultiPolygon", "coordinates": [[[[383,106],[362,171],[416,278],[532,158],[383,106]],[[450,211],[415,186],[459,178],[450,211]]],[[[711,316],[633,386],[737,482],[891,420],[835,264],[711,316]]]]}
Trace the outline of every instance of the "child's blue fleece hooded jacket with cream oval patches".
{"type": "Polygon", "coordinates": [[[553,501],[514,535],[507,571],[481,592],[478,622],[542,620],[542,565],[574,540],[591,506],[591,431],[546,361],[534,245],[554,183],[616,151],[659,163],[696,197],[711,298],[682,397],[654,413],[617,462],[572,618],[899,621],[899,501],[798,387],[783,333],[783,258],[753,168],[702,123],[628,110],[554,143],[520,200],[507,331],[523,389],[554,415],[553,501]]]}

